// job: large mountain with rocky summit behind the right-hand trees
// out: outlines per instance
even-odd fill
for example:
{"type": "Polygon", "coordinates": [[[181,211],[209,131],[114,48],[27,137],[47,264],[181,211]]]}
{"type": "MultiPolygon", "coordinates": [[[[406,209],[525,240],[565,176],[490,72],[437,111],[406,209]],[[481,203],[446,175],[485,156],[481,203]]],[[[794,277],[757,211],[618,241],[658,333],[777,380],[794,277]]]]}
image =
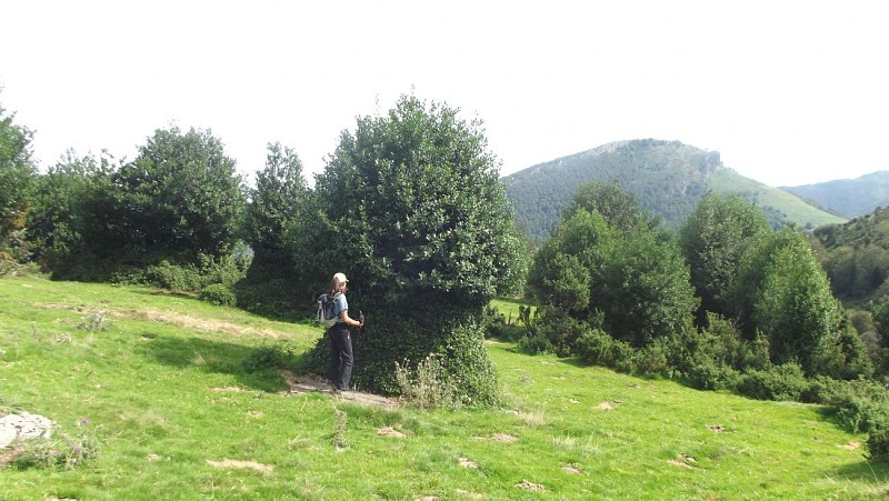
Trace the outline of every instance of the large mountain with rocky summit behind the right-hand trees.
{"type": "Polygon", "coordinates": [[[516,207],[516,221],[535,240],[549,236],[580,184],[619,179],[643,209],[680,227],[708,192],[738,193],[757,203],[773,226],[801,228],[846,219],[818,209],[792,193],[767,187],[726,168],[719,152],[679,141],[618,141],[540,163],[502,178],[516,207]]]}

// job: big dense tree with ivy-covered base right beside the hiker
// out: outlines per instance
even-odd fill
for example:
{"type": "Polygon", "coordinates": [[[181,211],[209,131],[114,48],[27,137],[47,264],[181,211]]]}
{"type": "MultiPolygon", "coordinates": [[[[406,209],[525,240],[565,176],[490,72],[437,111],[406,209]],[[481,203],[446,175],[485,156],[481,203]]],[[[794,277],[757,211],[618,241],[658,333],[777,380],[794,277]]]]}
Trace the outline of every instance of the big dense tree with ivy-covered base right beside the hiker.
{"type": "Polygon", "coordinates": [[[316,180],[314,255],[322,283],[344,271],[351,309],[368,312],[357,384],[394,391],[396,362],[432,353],[460,394],[487,402],[496,378],[481,313],[522,275],[523,244],[481,123],[458,112],[402,96],[342,132],[316,180]]]}

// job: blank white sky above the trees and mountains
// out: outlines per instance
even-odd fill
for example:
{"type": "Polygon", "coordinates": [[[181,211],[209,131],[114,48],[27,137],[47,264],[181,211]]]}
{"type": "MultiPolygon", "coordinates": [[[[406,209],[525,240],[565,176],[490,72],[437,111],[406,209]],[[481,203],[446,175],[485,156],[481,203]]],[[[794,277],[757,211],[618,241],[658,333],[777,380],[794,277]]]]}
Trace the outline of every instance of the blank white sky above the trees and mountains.
{"type": "Polygon", "coordinates": [[[0,0],[0,103],[69,148],[134,157],[210,129],[321,170],[340,131],[413,93],[485,122],[508,174],[678,140],[770,186],[889,170],[889,2],[0,0]]]}

